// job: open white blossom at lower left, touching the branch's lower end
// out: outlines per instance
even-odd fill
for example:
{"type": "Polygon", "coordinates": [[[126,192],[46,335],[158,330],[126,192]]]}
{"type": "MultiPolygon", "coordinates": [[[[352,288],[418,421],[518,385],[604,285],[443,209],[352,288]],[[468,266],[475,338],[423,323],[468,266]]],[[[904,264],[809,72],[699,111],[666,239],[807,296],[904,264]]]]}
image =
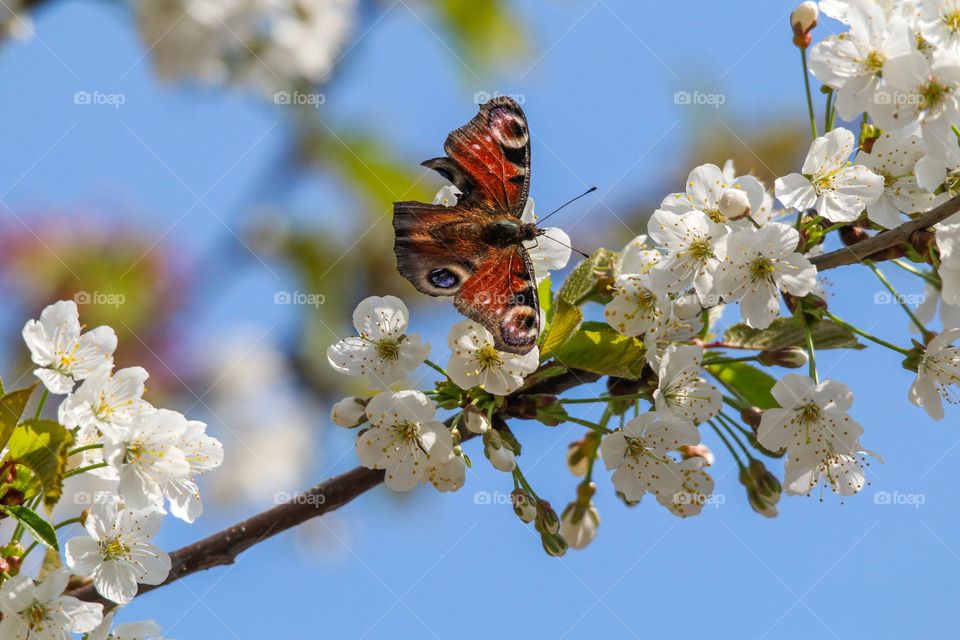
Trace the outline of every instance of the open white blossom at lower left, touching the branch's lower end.
{"type": "Polygon", "coordinates": [[[170,556],[150,542],[162,520],[154,509],[123,509],[111,497],[100,498],[83,523],[88,535],[67,541],[67,565],[91,577],[100,595],[127,604],[138,584],[161,584],[170,573],[170,556]]]}

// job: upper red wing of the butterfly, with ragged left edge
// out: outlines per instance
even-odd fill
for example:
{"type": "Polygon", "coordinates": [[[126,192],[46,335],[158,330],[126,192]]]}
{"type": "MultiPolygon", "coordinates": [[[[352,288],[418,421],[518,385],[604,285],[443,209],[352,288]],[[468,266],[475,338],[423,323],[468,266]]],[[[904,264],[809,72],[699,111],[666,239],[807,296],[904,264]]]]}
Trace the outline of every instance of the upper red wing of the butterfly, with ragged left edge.
{"type": "Polygon", "coordinates": [[[447,136],[447,157],[427,160],[463,195],[459,204],[520,218],[530,194],[530,133],[523,109],[500,96],[447,136]]]}

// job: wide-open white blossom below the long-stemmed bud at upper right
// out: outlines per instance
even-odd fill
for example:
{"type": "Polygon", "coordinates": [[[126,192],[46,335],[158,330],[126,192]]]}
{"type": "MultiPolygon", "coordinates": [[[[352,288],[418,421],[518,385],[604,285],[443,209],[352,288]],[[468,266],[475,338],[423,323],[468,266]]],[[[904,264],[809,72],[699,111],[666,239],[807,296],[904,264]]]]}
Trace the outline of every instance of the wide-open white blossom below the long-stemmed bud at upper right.
{"type": "Polygon", "coordinates": [[[854,137],[834,129],[810,145],[800,173],[777,178],[777,199],[783,206],[816,209],[831,222],[856,220],[883,193],[883,178],[863,165],[850,165],[854,137]]]}

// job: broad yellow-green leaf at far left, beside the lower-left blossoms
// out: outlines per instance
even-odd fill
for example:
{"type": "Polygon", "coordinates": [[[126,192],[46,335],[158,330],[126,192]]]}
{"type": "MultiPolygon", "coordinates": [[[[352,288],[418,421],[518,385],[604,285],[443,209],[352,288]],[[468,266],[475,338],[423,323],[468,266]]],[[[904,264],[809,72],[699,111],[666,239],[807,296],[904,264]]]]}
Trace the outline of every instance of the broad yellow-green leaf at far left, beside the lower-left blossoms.
{"type": "Polygon", "coordinates": [[[7,457],[33,472],[47,507],[60,500],[67,451],[72,443],[73,433],[52,420],[26,420],[10,435],[7,457]]]}

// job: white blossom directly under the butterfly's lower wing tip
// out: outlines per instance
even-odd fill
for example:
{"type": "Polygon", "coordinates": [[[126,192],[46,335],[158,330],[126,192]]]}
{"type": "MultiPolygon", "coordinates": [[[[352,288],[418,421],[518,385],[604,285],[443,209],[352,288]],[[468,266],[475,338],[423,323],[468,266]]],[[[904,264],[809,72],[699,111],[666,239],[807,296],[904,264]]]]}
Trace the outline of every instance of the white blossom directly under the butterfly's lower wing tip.
{"type": "Polygon", "coordinates": [[[447,374],[454,384],[463,389],[480,387],[495,396],[516,391],[540,363],[537,347],[524,355],[497,351],[493,335],[472,320],[453,325],[447,343],[452,353],[447,374]]]}

